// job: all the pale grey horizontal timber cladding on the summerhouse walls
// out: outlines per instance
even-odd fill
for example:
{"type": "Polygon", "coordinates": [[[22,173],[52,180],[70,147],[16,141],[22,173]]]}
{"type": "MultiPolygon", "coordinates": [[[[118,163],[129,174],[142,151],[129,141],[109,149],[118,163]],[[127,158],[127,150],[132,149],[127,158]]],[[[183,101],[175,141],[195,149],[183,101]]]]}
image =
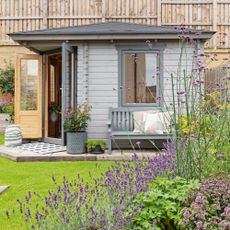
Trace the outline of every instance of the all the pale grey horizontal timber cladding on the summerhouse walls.
{"type": "MultiPolygon", "coordinates": [[[[170,108],[172,103],[170,73],[174,73],[176,78],[181,49],[178,42],[164,42],[164,44],[163,96],[164,104],[170,108]]],[[[88,55],[85,53],[84,43],[78,46],[78,102],[84,103],[85,95],[88,95],[88,103],[92,105],[92,116],[88,126],[88,138],[90,139],[107,139],[109,107],[119,106],[120,86],[116,45],[111,42],[89,42],[88,55]],[[88,77],[87,84],[84,82],[86,76],[88,77]]],[[[194,47],[187,47],[187,52],[182,57],[183,66],[187,68],[188,73],[192,69],[193,51],[194,47]]]]}

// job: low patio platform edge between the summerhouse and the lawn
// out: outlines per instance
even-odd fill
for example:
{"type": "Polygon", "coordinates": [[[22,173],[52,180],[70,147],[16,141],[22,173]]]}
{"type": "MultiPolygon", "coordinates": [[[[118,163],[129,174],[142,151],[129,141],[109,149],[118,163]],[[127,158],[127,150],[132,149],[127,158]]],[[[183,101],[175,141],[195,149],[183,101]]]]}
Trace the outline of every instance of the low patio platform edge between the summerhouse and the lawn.
{"type": "Polygon", "coordinates": [[[31,151],[20,150],[17,148],[6,147],[0,145],[0,156],[17,162],[33,162],[33,161],[116,161],[131,160],[133,153],[138,157],[150,157],[159,153],[157,150],[114,150],[112,154],[67,154],[64,152],[56,152],[50,154],[39,154],[31,151]]]}

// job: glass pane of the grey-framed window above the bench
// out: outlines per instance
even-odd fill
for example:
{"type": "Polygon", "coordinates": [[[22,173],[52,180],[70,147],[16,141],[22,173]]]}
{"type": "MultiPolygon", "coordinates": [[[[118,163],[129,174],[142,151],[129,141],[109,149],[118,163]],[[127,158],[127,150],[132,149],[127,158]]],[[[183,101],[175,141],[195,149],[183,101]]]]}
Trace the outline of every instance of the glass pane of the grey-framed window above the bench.
{"type": "Polygon", "coordinates": [[[130,52],[123,55],[123,93],[124,105],[143,105],[157,103],[159,87],[158,52],[130,52]]]}

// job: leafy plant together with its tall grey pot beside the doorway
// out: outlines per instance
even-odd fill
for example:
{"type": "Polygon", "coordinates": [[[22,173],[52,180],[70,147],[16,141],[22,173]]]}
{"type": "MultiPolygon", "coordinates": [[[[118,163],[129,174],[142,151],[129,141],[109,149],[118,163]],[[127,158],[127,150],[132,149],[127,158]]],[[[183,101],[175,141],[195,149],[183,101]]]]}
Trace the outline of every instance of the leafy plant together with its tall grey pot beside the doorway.
{"type": "Polygon", "coordinates": [[[79,105],[65,113],[64,130],[67,133],[67,153],[84,153],[87,140],[86,128],[90,120],[91,106],[79,105]]]}

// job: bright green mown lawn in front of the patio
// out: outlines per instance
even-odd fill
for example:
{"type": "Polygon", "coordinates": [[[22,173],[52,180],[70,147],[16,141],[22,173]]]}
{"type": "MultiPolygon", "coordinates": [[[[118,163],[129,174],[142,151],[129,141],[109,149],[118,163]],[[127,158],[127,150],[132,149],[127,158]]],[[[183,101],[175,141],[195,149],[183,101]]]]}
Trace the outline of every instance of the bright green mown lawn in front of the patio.
{"type": "MultiPolygon", "coordinates": [[[[3,142],[3,135],[0,135],[3,142]]],[[[61,181],[63,176],[69,179],[78,173],[90,180],[89,171],[99,176],[111,162],[103,162],[96,166],[95,162],[32,162],[18,163],[0,157],[0,185],[10,185],[10,188],[0,195],[0,230],[25,229],[25,225],[18,211],[17,199],[24,200],[28,191],[46,194],[54,188],[52,176],[61,181]],[[5,211],[15,208],[15,214],[7,220],[5,211]]]]}

